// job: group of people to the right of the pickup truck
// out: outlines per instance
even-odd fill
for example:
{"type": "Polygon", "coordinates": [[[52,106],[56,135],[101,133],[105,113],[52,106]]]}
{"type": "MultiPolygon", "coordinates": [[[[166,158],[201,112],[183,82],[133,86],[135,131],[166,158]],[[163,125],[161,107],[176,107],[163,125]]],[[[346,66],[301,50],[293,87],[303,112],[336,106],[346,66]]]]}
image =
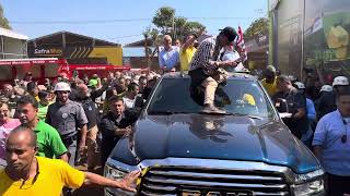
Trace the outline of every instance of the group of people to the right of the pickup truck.
{"type": "MultiPolygon", "coordinates": [[[[306,78],[307,81],[307,78],[306,78]]],[[[350,193],[350,86],[337,76],[320,88],[278,74],[269,65],[261,81],[292,134],[308,146],[327,173],[328,195],[350,193]],[[316,93],[315,93],[316,91],[316,93]]]]}

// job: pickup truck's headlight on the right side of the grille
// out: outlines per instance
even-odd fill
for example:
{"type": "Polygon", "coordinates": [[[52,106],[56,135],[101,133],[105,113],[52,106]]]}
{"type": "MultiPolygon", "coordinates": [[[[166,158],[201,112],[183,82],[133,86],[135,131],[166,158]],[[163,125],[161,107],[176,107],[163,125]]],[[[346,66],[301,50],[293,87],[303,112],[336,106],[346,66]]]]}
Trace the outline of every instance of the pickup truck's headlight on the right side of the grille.
{"type": "Polygon", "coordinates": [[[317,170],[306,174],[296,175],[296,184],[292,185],[293,195],[317,195],[325,192],[324,171],[317,170]]]}

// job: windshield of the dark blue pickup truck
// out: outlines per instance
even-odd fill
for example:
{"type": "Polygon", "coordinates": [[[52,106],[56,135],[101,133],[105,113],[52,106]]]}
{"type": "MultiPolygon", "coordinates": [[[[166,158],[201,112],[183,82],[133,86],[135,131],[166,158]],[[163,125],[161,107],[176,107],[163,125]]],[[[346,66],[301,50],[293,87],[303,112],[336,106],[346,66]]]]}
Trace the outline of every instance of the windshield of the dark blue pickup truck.
{"type": "MultiPolygon", "coordinates": [[[[189,78],[163,78],[150,101],[149,114],[199,113],[202,107],[189,94],[189,78]]],[[[273,118],[273,109],[254,81],[229,79],[215,91],[215,106],[228,113],[273,118]]]]}

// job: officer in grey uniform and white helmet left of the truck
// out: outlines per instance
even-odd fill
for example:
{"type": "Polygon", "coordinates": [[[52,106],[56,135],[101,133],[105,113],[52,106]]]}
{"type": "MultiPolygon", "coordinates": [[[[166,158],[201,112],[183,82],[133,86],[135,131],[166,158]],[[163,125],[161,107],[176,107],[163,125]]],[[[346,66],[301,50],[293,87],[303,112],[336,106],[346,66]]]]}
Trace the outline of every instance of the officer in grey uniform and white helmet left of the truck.
{"type": "Polygon", "coordinates": [[[82,105],[69,99],[71,89],[68,83],[57,83],[54,91],[57,99],[55,103],[48,107],[46,123],[59,132],[68,149],[69,164],[74,166],[77,145],[79,155],[83,154],[85,148],[88,118],[82,105]],[[78,134],[78,128],[80,130],[80,134],[78,134]]]}

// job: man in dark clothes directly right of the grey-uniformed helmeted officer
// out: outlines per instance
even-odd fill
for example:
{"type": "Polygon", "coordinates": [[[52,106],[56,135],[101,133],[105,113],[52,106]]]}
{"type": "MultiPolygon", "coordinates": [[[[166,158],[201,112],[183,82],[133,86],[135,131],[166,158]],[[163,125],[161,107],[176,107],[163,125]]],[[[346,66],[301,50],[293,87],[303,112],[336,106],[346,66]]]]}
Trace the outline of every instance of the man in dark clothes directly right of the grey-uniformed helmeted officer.
{"type": "Polygon", "coordinates": [[[88,135],[86,135],[86,146],[88,146],[88,170],[93,171],[96,166],[100,164],[101,158],[98,156],[98,146],[96,142],[98,128],[97,128],[97,118],[98,110],[95,102],[91,99],[89,88],[85,84],[78,85],[78,102],[83,106],[84,112],[88,118],[88,135]]]}

